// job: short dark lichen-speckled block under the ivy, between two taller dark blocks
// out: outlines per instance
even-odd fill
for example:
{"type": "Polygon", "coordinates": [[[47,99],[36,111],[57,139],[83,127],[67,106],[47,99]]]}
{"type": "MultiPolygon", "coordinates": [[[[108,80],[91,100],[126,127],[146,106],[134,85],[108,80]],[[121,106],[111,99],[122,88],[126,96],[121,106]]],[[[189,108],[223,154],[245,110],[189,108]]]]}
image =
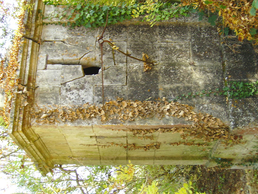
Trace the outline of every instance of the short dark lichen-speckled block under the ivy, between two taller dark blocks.
{"type": "Polygon", "coordinates": [[[189,29],[186,25],[159,25],[158,42],[189,42],[189,29]]]}

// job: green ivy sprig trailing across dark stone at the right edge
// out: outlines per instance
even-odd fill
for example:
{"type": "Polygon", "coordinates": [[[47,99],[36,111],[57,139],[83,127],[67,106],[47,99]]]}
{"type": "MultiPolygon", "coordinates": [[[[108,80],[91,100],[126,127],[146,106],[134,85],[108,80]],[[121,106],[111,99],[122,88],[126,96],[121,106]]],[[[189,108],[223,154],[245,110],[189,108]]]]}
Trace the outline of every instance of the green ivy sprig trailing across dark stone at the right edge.
{"type": "Polygon", "coordinates": [[[210,96],[213,95],[225,95],[230,99],[242,99],[250,98],[258,94],[258,81],[244,82],[244,81],[227,81],[225,87],[216,88],[215,91],[203,89],[201,92],[182,94],[177,96],[174,101],[181,100],[182,98],[195,98],[196,96],[210,96]]]}

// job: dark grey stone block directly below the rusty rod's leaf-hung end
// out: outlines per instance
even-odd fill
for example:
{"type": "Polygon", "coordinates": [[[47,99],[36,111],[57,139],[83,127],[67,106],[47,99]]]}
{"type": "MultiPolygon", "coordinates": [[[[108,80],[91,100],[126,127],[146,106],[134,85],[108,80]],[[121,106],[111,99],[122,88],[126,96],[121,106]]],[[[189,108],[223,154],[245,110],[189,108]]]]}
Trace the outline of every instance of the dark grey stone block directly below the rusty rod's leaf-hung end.
{"type": "Polygon", "coordinates": [[[157,66],[150,71],[144,72],[143,65],[129,65],[127,71],[128,99],[146,100],[158,98],[158,79],[159,73],[157,66]]]}

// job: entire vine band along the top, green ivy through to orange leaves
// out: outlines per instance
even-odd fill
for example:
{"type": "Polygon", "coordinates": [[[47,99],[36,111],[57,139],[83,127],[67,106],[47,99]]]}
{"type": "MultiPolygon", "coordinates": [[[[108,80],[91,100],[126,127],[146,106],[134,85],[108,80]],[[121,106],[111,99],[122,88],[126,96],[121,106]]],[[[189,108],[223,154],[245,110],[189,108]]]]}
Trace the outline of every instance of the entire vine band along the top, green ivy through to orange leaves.
{"type": "MultiPolygon", "coordinates": [[[[137,18],[142,16],[140,21],[147,21],[153,26],[157,21],[168,20],[172,17],[188,16],[189,12],[198,12],[200,19],[207,13],[208,21],[211,25],[215,25],[218,17],[222,18],[222,23],[218,22],[220,26],[219,32],[227,35],[229,29],[235,31],[239,41],[254,40],[257,43],[258,20],[256,10],[258,9],[257,0],[182,0],[181,4],[169,3],[157,0],[146,0],[142,3],[132,4],[133,1],[127,3],[117,3],[116,6],[107,3],[99,5],[95,3],[81,4],[71,1],[65,2],[67,10],[54,15],[55,18],[66,18],[70,21],[68,23],[61,23],[62,25],[85,26],[85,27],[99,27],[104,26],[104,18],[109,11],[111,14],[108,19],[108,24],[115,24],[124,21],[125,19],[137,18]]],[[[45,1],[46,4],[60,5],[60,2],[45,1]]]]}

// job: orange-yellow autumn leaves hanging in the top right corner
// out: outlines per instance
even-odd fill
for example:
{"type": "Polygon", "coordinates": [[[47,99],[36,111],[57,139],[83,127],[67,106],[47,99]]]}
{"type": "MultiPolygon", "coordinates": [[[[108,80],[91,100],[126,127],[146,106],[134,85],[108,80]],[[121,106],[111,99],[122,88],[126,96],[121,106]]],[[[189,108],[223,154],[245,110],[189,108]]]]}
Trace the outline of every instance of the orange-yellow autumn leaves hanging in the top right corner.
{"type": "Polygon", "coordinates": [[[256,10],[258,9],[257,0],[183,0],[182,5],[192,5],[194,9],[200,10],[200,15],[203,15],[204,9],[211,11],[209,22],[215,25],[217,16],[222,17],[222,27],[219,29],[223,32],[224,28],[229,27],[235,31],[239,41],[254,40],[258,43],[258,20],[256,10]]]}

